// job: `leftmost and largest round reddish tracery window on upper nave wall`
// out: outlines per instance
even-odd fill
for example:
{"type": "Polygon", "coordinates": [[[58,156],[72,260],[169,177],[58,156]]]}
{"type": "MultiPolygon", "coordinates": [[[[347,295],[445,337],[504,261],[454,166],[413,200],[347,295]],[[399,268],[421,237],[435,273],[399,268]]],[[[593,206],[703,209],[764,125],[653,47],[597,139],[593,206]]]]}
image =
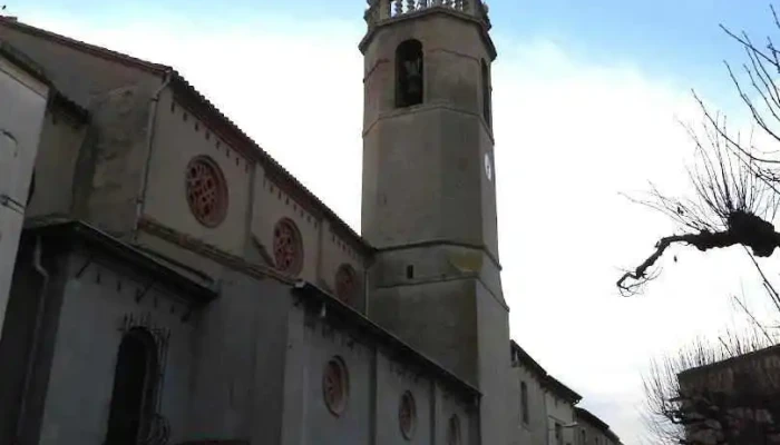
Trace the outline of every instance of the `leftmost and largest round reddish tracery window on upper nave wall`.
{"type": "Polygon", "coordinates": [[[198,156],[186,172],[189,210],[206,227],[216,227],[227,214],[227,185],[222,170],[211,158],[198,156]]]}

